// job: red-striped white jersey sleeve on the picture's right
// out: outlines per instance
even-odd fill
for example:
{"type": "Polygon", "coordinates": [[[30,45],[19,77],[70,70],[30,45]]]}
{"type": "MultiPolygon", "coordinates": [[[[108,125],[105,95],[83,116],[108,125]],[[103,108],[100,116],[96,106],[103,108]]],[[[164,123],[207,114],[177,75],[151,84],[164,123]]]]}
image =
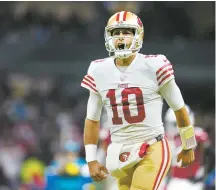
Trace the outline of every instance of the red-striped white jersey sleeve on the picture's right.
{"type": "Polygon", "coordinates": [[[155,57],[153,68],[156,74],[157,83],[159,88],[166,84],[171,79],[174,79],[174,70],[172,64],[164,55],[155,57]]]}

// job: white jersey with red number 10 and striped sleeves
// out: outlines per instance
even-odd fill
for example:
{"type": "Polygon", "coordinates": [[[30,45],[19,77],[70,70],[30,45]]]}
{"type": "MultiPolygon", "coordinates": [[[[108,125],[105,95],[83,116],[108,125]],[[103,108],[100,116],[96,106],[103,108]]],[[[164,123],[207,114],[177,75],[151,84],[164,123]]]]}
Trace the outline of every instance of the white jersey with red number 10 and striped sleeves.
{"type": "Polygon", "coordinates": [[[100,94],[112,142],[130,144],[164,133],[159,90],[173,78],[172,65],[164,55],[138,53],[123,73],[114,58],[91,62],[81,86],[100,94]]]}

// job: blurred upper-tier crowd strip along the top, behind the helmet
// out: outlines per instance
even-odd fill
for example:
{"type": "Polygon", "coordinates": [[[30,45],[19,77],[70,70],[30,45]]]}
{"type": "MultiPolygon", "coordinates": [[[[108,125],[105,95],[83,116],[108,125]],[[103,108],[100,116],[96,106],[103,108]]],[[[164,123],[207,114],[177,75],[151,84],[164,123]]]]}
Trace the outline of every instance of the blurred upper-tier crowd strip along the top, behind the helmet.
{"type": "MultiPolygon", "coordinates": [[[[53,37],[94,40],[110,15],[131,10],[144,19],[148,39],[214,39],[214,2],[1,2],[0,38],[28,31],[42,41],[53,37]],[[160,19],[158,19],[160,18],[160,19]],[[184,27],[182,27],[184,26],[184,27]]],[[[148,40],[146,39],[146,40],[148,40]]]]}

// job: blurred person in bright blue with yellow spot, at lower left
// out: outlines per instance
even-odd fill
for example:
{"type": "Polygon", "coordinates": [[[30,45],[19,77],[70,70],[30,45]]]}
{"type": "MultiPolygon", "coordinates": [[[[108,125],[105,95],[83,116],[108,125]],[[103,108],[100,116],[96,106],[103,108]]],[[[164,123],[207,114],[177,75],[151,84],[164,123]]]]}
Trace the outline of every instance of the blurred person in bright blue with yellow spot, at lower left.
{"type": "Polygon", "coordinates": [[[56,153],[46,168],[45,190],[94,190],[87,163],[79,153],[79,143],[66,141],[63,152],[56,153]]]}

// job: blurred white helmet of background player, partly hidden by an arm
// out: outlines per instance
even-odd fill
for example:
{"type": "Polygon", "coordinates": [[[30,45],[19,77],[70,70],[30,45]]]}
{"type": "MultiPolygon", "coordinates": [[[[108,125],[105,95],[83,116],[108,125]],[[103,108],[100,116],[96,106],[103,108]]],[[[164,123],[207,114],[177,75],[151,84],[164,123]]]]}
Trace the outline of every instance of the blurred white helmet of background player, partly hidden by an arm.
{"type": "MultiPolygon", "coordinates": [[[[189,117],[190,117],[190,121],[191,121],[191,125],[195,124],[195,116],[194,116],[194,112],[193,110],[188,106],[185,105],[189,117]]],[[[175,117],[175,113],[174,111],[169,108],[166,113],[165,113],[165,117],[164,117],[164,127],[165,130],[172,135],[177,135],[178,134],[178,128],[177,128],[177,122],[176,122],[176,117],[175,117]]]]}

